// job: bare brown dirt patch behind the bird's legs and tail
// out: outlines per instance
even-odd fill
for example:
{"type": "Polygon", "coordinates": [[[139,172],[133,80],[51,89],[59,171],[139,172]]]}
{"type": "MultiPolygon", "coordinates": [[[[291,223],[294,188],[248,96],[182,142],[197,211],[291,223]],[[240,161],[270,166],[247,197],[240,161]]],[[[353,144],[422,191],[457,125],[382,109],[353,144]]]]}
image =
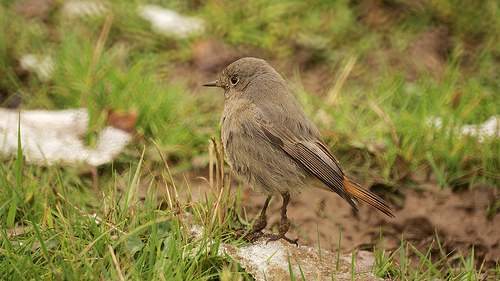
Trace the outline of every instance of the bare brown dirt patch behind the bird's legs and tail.
{"type": "MultiPolygon", "coordinates": [[[[203,200],[204,193],[211,192],[206,180],[199,177],[208,178],[208,173],[191,174],[188,179],[194,201],[203,200]]],[[[299,238],[300,245],[312,247],[318,247],[319,238],[322,249],[336,252],[342,232],[343,253],[350,253],[353,248],[372,251],[381,237],[383,248],[391,253],[403,239],[424,255],[432,247],[433,262],[452,252],[468,256],[474,248],[478,268],[483,262],[486,268],[494,267],[500,259],[500,215],[489,220],[487,209],[500,199],[498,187],[476,185],[470,191],[452,192],[450,188],[439,189],[432,179],[419,181],[413,177],[413,183],[417,188],[400,187],[404,201],[394,206],[396,218],[389,218],[366,204],[359,204],[357,213],[333,192],[306,190],[293,197],[288,207],[292,221],[288,237],[299,238]]],[[[235,180],[234,188],[236,186],[235,180]]],[[[376,192],[384,196],[380,188],[376,192]]],[[[185,196],[186,193],[181,192],[181,201],[185,196]]],[[[241,204],[250,218],[259,214],[265,199],[249,186],[242,186],[241,204]]],[[[270,204],[267,233],[277,232],[281,203],[282,199],[275,197],[270,204]]],[[[410,257],[415,260],[413,265],[418,266],[416,255],[410,254],[410,257]]],[[[448,257],[448,263],[452,267],[457,263],[453,254],[448,257]]]]}

